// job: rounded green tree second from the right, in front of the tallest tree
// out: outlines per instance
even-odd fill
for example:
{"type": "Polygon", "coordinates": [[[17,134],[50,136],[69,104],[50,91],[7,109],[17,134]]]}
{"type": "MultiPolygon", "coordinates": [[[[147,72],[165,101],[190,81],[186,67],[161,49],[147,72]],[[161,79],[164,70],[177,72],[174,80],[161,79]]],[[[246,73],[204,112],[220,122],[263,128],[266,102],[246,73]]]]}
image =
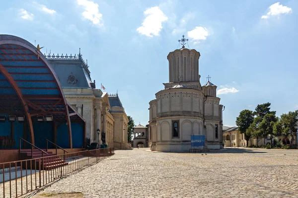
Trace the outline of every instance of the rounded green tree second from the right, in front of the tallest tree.
{"type": "Polygon", "coordinates": [[[260,133],[261,136],[264,138],[264,145],[265,139],[268,135],[271,138],[271,148],[272,148],[272,135],[273,135],[273,127],[274,124],[277,122],[277,117],[274,114],[266,113],[263,117],[262,122],[260,123],[260,133]]]}

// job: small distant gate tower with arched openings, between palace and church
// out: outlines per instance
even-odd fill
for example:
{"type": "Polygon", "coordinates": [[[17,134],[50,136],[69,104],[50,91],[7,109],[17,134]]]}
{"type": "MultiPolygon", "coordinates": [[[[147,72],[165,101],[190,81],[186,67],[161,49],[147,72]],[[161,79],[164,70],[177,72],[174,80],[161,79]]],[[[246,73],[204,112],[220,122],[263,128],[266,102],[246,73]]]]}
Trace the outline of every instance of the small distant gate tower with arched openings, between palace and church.
{"type": "Polygon", "coordinates": [[[148,133],[147,127],[143,126],[141,123],[134,128],[134,147],[140,148],[148,147],[148,133]]]}

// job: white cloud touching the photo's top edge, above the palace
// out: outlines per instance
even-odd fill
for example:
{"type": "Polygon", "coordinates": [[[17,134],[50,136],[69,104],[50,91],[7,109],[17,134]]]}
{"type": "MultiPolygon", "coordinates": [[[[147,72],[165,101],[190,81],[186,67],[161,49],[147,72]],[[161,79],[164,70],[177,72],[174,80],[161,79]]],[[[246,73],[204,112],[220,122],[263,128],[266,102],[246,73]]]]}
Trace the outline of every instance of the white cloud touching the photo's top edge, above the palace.
{"type": "Polygon", "coordinates": [[[102,14],[99,13],[98,7],[99,5],[90,0],[76,0],[78,5],[84,7],[82,12],[82,16],[85,19],[90,20],[94,25],[102,26],[102,14]]]}

